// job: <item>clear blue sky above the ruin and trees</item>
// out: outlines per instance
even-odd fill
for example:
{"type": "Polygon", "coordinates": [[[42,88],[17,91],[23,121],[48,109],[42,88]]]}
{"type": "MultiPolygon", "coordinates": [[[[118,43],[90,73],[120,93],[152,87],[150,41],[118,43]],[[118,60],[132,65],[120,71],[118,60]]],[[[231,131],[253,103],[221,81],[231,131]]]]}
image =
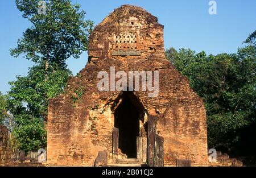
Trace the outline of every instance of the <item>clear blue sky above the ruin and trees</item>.
{"type": "MultiPolygon", "coordinates": [[[[209,15],[209,0],[73,0],[80,3],[87,13],[86,18],[98,24],[115,8],[124,5],[137,5],[158,16],[164,25],[165,48],[191,48],[196,52],[217,53],[237,51],[242,42],[256,30],[255,0],[216,0],[217,15],[209,15]]],[[[30,27],[27,19],[16,9],[15,0],[1,1],[0,6],[0,91],[7,92],[9,81],[16,75],[26,76],[28,67],[33,65],[23,57],[10,56],[9,49],[16,47],[22,32],[30,27]]],[[[80,59],[69,59],[69,69],[73,74],[84,68],[87,52],[80,59]]]]}

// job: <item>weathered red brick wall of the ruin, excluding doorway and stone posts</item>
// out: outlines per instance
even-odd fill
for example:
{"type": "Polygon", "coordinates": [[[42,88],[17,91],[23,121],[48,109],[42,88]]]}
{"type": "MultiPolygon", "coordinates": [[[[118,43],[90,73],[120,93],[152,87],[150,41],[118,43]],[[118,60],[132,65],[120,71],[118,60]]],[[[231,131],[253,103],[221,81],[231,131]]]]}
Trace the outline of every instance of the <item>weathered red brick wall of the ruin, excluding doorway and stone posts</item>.
{"type": "Polygon", "coordinates": [[[48,164],[93,165],[98,151],[104,150],[108,152],[109,163],[112,162],[113,113],[121,101],[120,93],[97,89],[98,72],[110,73],[112,66],[115,71],[159,71],[158,97],[150,98],[148,92],[134,92],[146,115],[140,121],[143,140],[147,115],[153,111],[159,118],[157,132],[164,138],[166,165],[174,165],[177,158],[191,158],[193,164],[206,163],[203,101],[190,89],[187,78],[167,61],[163,26],[155,16],[128,5],[114,10],[94,28],[88,53],[85,68],[69,80],[64,94],[49,103],[48,164]],[[124,52],[137,51],[140,55],[113,55],[120,47],[124,52]]]}

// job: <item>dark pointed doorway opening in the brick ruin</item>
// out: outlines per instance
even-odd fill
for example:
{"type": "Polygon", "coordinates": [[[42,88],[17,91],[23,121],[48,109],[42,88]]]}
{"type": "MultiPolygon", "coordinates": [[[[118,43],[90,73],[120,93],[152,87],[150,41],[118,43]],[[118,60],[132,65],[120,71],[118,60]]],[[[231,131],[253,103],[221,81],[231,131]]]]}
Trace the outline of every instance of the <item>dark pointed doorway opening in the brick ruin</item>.
{"type": "Polygon", "coordinates": [[[127,158],[137,158],[139,111],[133,104],[132,92],[122,93],[122,102],[114,111],[114,127],[119,129],[118,147],[127,158]]]}

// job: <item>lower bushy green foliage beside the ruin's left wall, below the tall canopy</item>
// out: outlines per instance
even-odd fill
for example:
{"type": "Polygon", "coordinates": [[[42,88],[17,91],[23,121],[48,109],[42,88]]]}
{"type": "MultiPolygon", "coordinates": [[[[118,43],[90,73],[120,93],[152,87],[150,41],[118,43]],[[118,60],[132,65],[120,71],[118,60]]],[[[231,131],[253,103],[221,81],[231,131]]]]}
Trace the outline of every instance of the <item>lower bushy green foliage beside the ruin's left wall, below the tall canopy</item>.
{"type": "Polygon", "coordinates": [[[69,76],[68,69],[49,65],[46,81],[44,65],[39,64],[30,68],[26,77],[17,76],[16,81],[10,82],[9,110],[15,119],[13,135],[20,143],[20,149],[29,151],[46,147],[46,123],[43,121],[48,100],[63,92],[69,76]]]}

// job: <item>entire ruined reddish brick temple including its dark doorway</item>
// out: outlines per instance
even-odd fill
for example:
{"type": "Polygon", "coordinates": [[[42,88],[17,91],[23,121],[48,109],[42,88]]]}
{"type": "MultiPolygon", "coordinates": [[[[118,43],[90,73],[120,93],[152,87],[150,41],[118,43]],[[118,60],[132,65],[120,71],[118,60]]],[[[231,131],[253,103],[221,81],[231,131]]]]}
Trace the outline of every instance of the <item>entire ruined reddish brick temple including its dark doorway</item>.
{"type": "Polygon", "coordinates": [[[98,155],[97,163],[175,166],[185,159],[207,165],[203,101],[166,59],[155,16],[130,5],[115,9],[94,28],[88,55],[85,68],[49,102],[49,165],[93,166],[98,155]],[[116,72],[158,71],[158,96],[100,92],[97,74],[113,66],[116,72]]]}

